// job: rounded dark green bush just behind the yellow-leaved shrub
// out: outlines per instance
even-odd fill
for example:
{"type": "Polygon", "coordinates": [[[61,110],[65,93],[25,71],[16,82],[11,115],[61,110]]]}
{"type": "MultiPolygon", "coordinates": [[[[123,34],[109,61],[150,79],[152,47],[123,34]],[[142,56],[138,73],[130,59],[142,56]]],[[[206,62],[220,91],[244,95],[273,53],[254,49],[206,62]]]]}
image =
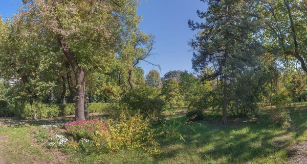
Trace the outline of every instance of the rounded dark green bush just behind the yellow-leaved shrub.
{"type": "Polygon", "coordinates": [[[160,90],[154,87],[141,86],[126,93],[121,102],[126,104],[132,115],[145,114],[160,116],[165,102],[160,98],[160,90]]]}

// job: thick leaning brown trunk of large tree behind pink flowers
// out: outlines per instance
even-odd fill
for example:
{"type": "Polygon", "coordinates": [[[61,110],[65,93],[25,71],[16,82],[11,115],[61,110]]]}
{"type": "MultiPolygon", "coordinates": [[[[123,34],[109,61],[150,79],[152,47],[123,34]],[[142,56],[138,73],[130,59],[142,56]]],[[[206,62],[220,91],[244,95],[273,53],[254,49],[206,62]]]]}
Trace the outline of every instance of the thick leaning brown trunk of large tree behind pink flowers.
{"type": "Polygon", "coordinates": [[[76,121],[85,120],[84,116],[84,69],[79,67],[77,60],[75,59],[74,52],[69,48],[67,42],[65,42],[64,38],[58,36],[58,43],[61,46],[65,57],[67,58],[70,66],[72,67],[75,78],[76,78],[76,112],[75,119],[76,121]]]}

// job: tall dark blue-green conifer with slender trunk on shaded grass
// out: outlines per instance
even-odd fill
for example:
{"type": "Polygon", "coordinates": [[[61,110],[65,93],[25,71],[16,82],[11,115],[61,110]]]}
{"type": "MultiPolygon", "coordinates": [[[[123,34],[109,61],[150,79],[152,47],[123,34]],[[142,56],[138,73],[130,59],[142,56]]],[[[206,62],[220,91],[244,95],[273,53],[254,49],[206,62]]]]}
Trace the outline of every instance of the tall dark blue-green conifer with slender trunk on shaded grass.
{"type": "Polygon", "coordinates": [[[226,124],[231,78],[253,67],[252,60],[256,59],[258,50],[261,50],[257,40],[251,38],[258,30],[257,22],[249,14],[251,7],[246,1],[204,2],[207,2],[208,10],[197,13],[200,18],[206,19],[206,23],[188,21],[191,30],[201,30],[189,42],[194,50],[192,65],[200,73],[206,66],[212,65],[214,73],[207,79],[220,77],[223,81],[222,123],[226,124]]]}

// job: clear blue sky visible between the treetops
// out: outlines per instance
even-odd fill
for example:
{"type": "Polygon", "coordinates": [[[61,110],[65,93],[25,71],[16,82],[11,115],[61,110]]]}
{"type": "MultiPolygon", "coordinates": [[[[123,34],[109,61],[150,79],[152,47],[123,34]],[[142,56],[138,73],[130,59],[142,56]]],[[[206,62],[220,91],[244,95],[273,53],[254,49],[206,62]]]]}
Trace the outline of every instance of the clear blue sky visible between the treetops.
{"type": "MultiPolygon", "coordinates": [[[[187,42],[193,38],[195,31],[188,28],[188,20],[200,19],[196,10],[205,11],[206,5],[200,0],[140,0],[138,14],[143,17],[140,28],[144,33],[156,36],[155,57],[148,60],[161,66],[161,76],[169,70],[188,70],[192,72],[192,52],[187,42]]],[[[20,0],[2,0],[0,13],[2,17],[16,12],[20,0]]],[[[157,67],[141,62],[145,74],[157,67]]]]}

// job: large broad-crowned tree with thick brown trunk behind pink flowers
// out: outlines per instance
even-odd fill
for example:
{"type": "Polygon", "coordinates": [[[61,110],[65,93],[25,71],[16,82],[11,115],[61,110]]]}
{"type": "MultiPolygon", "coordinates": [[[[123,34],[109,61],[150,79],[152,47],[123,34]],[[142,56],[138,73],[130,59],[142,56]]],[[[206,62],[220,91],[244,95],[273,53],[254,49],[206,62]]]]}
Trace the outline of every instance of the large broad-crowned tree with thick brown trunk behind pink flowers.
{"type": "Polygon", "coordinates": [[[139,2],[24,0],[23,3],[16,16],[18,24],[26,24],[30,34],[57,42],[75,75],[76,120],[84,120],[85,76],[108,69],[122,42],[121,35],[137,28],[139,2]]]}

